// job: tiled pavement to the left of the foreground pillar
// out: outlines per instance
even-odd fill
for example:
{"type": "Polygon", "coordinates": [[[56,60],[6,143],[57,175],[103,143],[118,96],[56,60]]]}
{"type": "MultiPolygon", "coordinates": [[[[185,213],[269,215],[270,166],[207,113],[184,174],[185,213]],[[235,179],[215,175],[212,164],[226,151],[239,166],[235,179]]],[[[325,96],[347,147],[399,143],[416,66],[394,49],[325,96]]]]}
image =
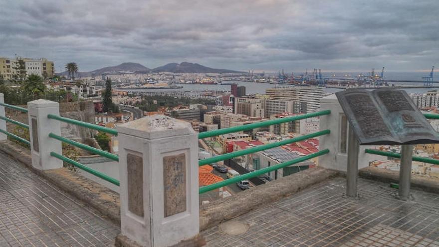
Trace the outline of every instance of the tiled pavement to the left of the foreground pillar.
{"type": "Polygon", "coordinates": [[[0,153],[0,247],[113,246],[120,228],[0,153]]]}

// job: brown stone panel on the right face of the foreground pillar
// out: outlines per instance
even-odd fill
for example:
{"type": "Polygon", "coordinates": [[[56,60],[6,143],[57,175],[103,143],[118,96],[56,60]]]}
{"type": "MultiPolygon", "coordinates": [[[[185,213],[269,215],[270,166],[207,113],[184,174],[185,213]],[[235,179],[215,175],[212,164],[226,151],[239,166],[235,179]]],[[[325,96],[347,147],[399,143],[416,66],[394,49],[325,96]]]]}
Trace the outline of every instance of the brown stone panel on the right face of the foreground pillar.
{"type": "Polygon", "coordinates": [[[165,217],[186,211],[186,154],[163,157],[165,217]]]}

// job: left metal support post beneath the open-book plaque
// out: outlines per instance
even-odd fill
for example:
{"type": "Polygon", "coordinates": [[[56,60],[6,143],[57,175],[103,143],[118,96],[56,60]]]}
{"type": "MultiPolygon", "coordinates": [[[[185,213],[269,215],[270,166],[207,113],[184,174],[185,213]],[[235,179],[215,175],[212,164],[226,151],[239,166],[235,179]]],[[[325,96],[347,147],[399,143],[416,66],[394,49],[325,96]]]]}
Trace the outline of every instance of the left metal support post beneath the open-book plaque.
{"type": "Polygon", "coordinates": [[[354,130],[349,126],[348,134],[348,168],[346,173],[346,195],[348,197],[357,196],[357,176],[358,176],[358,152],[360,145],[354,130]]]}

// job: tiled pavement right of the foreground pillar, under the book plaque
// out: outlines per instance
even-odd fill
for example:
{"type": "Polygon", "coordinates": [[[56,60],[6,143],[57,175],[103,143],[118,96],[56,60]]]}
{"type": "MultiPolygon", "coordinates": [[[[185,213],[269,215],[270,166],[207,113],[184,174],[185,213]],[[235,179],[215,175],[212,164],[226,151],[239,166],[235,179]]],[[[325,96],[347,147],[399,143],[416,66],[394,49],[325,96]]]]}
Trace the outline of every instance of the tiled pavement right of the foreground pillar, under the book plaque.
{"type": "Polygon", "coordinates": [[[217,226],[202,236],[208,247],[439,247],[439,195],[412,190],[415,200],[403,202],[388,184],[360,179],[353,200],[343,196],[345,183],[323,182],[234,219],[246,233],[217,226]]]}

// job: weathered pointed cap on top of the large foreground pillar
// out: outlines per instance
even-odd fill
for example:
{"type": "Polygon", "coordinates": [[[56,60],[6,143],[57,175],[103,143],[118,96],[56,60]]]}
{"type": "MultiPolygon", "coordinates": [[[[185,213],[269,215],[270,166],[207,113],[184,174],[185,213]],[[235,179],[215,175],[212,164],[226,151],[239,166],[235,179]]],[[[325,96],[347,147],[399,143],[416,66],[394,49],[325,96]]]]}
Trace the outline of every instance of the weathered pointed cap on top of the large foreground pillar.
{"type": "Polygon", "coordinates": [[[146,139],[157,139],[195,133],[189,122],[158,114],[117,125],[116,129],[119,134],[137,136],[146,139]]]}

